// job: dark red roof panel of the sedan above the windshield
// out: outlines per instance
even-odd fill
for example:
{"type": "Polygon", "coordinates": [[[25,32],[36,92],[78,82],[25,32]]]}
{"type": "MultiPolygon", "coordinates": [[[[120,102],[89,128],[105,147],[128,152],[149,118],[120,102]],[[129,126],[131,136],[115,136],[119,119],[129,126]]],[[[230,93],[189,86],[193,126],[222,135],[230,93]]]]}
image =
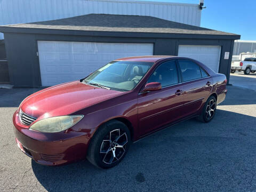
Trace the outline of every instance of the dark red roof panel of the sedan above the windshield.
{"type": "Polygon", "coordinates": [[[177,58],[177,56],[172,56],[172,55],[145,55],[145,56],[119,58],[119,59],[116,59],[115,61],[156,62],[158,60],[167,59],[167,58],[177,58]]]}

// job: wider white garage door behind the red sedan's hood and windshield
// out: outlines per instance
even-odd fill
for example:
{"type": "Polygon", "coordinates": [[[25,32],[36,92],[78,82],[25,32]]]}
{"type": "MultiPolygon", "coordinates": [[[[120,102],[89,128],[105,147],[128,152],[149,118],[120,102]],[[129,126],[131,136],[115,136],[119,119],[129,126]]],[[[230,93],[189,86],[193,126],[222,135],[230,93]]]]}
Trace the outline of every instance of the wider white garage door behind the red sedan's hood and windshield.
{"type": "Polygon", "coordinates": [[[151,43],[38,41],[42,86],[81,79],[109,61],[153,55],[151,43]]]}

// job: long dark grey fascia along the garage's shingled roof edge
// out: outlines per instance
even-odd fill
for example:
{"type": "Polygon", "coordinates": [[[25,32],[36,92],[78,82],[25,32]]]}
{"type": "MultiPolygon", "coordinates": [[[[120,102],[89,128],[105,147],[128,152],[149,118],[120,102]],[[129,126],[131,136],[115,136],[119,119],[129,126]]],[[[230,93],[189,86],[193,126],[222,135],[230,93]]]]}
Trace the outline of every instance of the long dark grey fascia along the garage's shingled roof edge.
{"type": "Polygon", "coordinates": [[[81,36],[103,36],[103,37],[141,37],[141,38],[206,38],[206,39],[240,39],[241,35],[209,35],[209,34],[180,34],[180,33],[147,33],[147,32],[125,32],[125,31],[85,31],[66,29],[39,29],[39,28],[17,28],[0,26],[2,33],[22,34],[49,34],[49,35],[81,35],[81,36]]]}

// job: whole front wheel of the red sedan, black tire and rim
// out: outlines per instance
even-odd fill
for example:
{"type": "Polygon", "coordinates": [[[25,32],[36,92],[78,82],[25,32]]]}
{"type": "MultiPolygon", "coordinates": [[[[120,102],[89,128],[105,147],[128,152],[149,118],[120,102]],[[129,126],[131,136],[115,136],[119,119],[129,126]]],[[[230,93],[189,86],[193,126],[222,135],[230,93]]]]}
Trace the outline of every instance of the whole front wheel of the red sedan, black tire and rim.
{"type": "Polygon", "coordinates": [[[102,169],[114,167],[122,161],[130,144],[131,133],[128,127],[122,122],[111,120],[94,133],[87,159],[102,169]]]}

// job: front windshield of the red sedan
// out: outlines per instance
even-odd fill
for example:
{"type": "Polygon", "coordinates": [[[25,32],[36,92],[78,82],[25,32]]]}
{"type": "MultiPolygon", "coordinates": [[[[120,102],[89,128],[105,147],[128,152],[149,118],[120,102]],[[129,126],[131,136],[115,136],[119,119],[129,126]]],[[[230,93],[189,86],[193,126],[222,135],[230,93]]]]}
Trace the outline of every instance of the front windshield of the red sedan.
{"type": "Polygon", "coordinates": [[[117,91],[132,90],[153,62],[112,61],[84,79],[84,83],[117,91]]]}

